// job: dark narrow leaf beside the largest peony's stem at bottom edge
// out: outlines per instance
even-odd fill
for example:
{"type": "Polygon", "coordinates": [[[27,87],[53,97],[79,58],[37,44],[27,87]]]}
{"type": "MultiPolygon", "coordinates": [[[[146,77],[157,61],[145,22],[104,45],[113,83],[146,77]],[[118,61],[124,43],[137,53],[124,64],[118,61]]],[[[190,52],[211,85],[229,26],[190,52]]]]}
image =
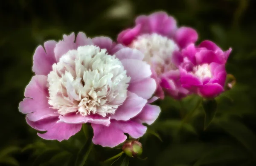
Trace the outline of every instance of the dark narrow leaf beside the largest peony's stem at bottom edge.
{"type": "Polygon", "coordinates": [[[90,139],[88,139],[85,142],[84,146],[78,152],[78,155],[77,155],[77,158],[76,158],[76,166],[83,166],[84,165],[84,163],[86,162],[92,148],[93,148],[93,143],[90,139]]]}

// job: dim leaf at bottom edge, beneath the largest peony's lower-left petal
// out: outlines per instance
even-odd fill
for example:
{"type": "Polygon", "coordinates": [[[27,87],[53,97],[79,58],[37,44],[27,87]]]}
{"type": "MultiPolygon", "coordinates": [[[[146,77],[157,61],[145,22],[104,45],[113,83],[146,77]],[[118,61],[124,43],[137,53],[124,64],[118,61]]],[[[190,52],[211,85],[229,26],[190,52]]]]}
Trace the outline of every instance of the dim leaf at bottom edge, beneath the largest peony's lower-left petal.
{"type": "Polygon", "coordinates": [[[39,166],[42,163],[48,162],[56,153],[58,153],[59,149],[50,149],[42,152],[34,161],[33,166],[39,166]]]}

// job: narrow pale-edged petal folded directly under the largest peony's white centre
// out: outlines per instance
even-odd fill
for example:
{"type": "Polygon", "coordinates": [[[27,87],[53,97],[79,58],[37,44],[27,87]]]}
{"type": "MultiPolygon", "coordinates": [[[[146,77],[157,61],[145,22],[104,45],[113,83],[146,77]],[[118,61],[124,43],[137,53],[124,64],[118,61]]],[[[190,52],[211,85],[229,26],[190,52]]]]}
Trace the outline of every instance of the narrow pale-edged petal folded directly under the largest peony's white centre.
{"type": "Polygon", "coordinates": [[[94,124],[102,124],[105,126],[109,126],[110,117],[102,117],[97,114],[82,116],[81,114],[71,113],[66,115],[60,115],[58,123],[59,122],[64,122],[69,124],[94,123],[94,124]]]}

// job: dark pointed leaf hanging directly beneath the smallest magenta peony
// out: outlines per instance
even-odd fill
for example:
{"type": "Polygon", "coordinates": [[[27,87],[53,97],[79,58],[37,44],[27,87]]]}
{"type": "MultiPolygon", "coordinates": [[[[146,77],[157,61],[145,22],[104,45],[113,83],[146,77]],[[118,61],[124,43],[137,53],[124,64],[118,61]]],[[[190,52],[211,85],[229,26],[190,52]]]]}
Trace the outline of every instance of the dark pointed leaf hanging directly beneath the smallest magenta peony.
{"type": "Polygon", "coordinates": [[[209,124],[212,122],[217,110],[217,102],[214,99],[206,99],[203,101],[204,107],[204,129],[206,129],[209,124]]]}

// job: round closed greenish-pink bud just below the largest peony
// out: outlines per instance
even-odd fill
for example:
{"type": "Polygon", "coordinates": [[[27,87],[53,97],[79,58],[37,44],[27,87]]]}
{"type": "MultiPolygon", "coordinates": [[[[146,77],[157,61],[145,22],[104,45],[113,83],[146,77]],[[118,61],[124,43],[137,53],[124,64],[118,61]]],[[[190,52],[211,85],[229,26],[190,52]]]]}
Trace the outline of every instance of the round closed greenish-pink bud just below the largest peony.
{"type": "Polygon", "coordinates": [[[130,157],[139,157],[142,154],[142,144],[137,140],[126,140],[122,150],[130,157]]]}

